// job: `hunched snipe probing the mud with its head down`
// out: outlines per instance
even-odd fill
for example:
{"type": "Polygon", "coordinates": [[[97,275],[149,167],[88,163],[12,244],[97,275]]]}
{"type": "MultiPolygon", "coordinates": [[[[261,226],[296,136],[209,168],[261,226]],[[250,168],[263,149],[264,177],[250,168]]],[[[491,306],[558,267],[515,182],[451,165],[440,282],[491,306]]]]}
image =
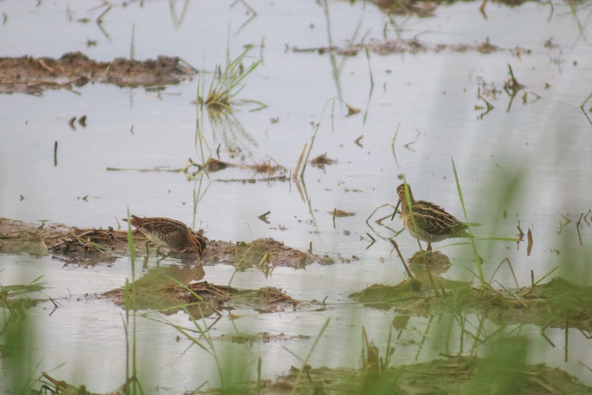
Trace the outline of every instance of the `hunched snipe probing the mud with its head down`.
{"type": "MultiPolygon", "coordinates": [[[[127,222],[127,219],[124,219],[127,222]]],[[[205,240],[203,237],[191,232],[189,228],[181,221],[170,218],[140,218],[131,216],[130,223],[148,237],[146,242],[146,256],[148,256],[148,245],[154,243],[157,245],[156,256],[160,252],[160,247],[177,249],[184,248],[191,250],[202,256],[205,249],[205,240]]]]}

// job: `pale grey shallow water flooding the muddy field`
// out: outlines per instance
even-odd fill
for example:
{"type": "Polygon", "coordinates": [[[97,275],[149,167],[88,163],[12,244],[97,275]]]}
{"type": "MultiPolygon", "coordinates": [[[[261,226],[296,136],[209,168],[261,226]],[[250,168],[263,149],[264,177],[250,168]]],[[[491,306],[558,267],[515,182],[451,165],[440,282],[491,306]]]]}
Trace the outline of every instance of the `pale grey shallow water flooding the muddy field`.
{"type": "MultiPolygon", "coordinates": [[[[262,101],[268,107],[249,111],[257,106],[237,105],[226,124],[231,125],[230,131],[224,131],[224,124],[213,126],[207,115],[201,115],[211,150],[221,144],[221,159],[239,162],[228,153],[239,147],[247,164],[272,158],[290,172],[313,134],[311,123],[320,122],[311,158],[326,152],[337,163],[324,169],[308,166],[300,184],[226,182],[253,176],[250,171],[236,169],[213,173],[197,182],[171,172],[108,171],[181,168],[188,158],[200,161],[194,145],[196,111],[190,104],[195,99],[197,76],[168,86],[160,94],[89,84],[76,92],[47,91],[43,97],[2,95],[0,216],[78,227],[117,227],[115,219],[121,220],[129,208],[141,216],[172,217],[188,224],[195,221],[210,239],[234,242],[274,237],[303,251],[312,243],[313,252],[327,253],[337,263],[310,265],[305,270],[276,268],[267,279],[255,269],[248,270],[237,274],[233,285],[271,285],[305,301],[327,297],[328,310],[313,311],[313,307],[311,311],[281,314],[233,311],[244,316],[233,321],[223,318],[215,325],[220,334],[265,331],[312,336],[240,346],[252,353],[252,359],[263,355],[265,377],[273,378],[299,364],[281,347],[307,354],[327,317],[332,317],[332,322],[311,365],[357,367],[362,325],[370,338],[385,346],[389,324],[398,313],[365,308],[348,294],[375,283],[397,284],[404,279],[404,268],[384,239],[393,233],[374,223],[392,209],[382,208],[368,224],[366,218],[375,207],[396,203],[400,174],[413,186],[416,198],[435,201],[462,218],[451,158],[468,219],[482,223],[473,229],[478,238],[516,237],[519,221],[525,233],[527,229],[533,232],[530,256],[525,242],[517,248],[516,243],[480,240],[477,246],[484,258],[486,278],[509,258],[520,286],[530,284],[531,270],[536,280],[558,265],[561,268],[556,274],[590,284],[590,216],[582,222],[581,243],[575,226],[580,214],[591,208],[588,197],[592,192],[591,123],[580,108],[591,93],[592,75],[585,11],[574,13],[565,4],[554,5],[553,11],[533,3],[513,8],[488,4],[484,19],[480,4],[441,6],[430,18],[393,17],[400,30],[387,24],[388,38],[397,34],[417,37],[433,48],[443,43],[476,45],[489,37],[491,44],[502,49],[525,47],[530,54],[517,57],[510,50],[490,54],[474,50],[370,52],[368,60],[363,51],[343,57],[286,50],[286,46],[345,46],[349,40],[359,43],[362,36],[365,43],[381,40],[387,18],[362,2],[329,2],[327,13],[316,2],[249,2],[257,12],[250,20],[251,14],[240,2],[234,6],[229,2],[190,2],[182,17],[182,9],[169,8],[168,2],[130,2],[126,7],[114,3],[101,25],[105,33],[92,21],[78,21],[98,17],[105,9],[94,8],[99,5],[58,1],[34,7],[9,2],[4,5],[7,20],[0,30],[0,54],[60,57],[79,50],[91,59],[109,61],[129,56],[133,31],[136,59],[179,56],[195,68],[207,70],[205,77],[211,78],[209,72],[224,62],[227,49],[237,56],[245,44],[254,43],[250,55],[253,60],[262,57],[263,62],[247,77],[239,98],[262,101]],[[558,47],[546,47],[549,39],[558,47]],[[87,48],[86,40],[96,40],[97,45],[87,48]],[[503,92],[508,65],[529,92],[523,102],[521,91],[509,110],[510,98],[503,92]],[[485,104],[477,94],[485,95],[485,89],[492,86],[500,92],[496,98],[486,99],[495,108],[481,117],[485,110],[475,106],[485,104]],[[342,102],[335,102],[334,108],[332,103],[326,106],[333,97],[361,108],[361,113],[346,117],[342,102]],[[83,114],[88,117],[86,128],[76,124],[75,131],[70,129],[67,121],[83,114]],[[271,123],[271,118],[279,118],[279,122],[271,123]],[[354,141],[362,135],[360,147],[354,141]],[[519,188],[510,193],[513,179],[519,180],[519,188]],[[195,212],[194,194],[201,197],[195,212]],[[330,212],[334,208],[356,215],[333,223],[330,212]],[[257,218],[266,211],[271,211],[269,224],[257,218]],[[559,213],[572,222],[562,227],[566,221],[559,213]],[[371,240],[366,233],[378,240],[369,248],[371,240]],[[352,255],[359,260],[345,263],[339,259],[352,255]]],[[[584,105],[588,117],[591,105],[584,105]]],[[[398,219],[384,224],[397,232],[401,229],[398,219]]],[[[407,232],[396,240],[406,258],[417,251],[416,240],[407,232]]],[[[470,246],[442,251],[453,264],[445,277],[470,280],[475,270],[470,246]]],[[[172,259],[161,262],[167,264],[178,265],[172,259]]],[[[205,279],[215,284],[226,284],[233,271],[228,265],[204,269],[205,279]]],[[[120,386],[125,372],[123,310],[95,294],[123,285],[130,276],[129,259],[86,267],[64,266],[51,256],[0,255],[2,285],[28,283],[39,275],[48,282],[43,293],[62,304],[51,315],[53,305],[49,302],[31,310],[37,325],[44,328],[37,333],[39,370],[50,371],[66,362],[52,372],[55,377],[84,383],[98,392],[120,386]],[[94,353],[94,360],[83,356],[88,351],[94,353]],[[85,365],[84,372],[78,368],[80,363],[85,365]]],[[[504,287],[515,287],[507,266],[497,271],[496,280],[504,287]]],[[[181,313],[170,317],[152,313],[150,317],[190,326],[181,313]]],[[[478,317],[470,320],[477,326],[478,317]]],[[[439,321],[445,322],[446,317],[411,317],[401,331],[394,362],[437,357],[441,349],[433,327],[439,321]],[[424,345],[426,332],[429,341],[424,345]]],[[[493,324],[488,325],[493,331],[493,324]]],[[[529,336],[533,363],[546,362],[592,384],[585,368],[592,366],[590,341],[580,332],[570,331],[569,358],[563,362],[564,332],[545,330],[556,345],[552,348],[534,326],[510,330],[529,336]]],[[[150,388],[162,386],[163,392],[180,393],[215,376],[207,356],[184,340],[175,342],[177,335],[176,330],[155,320],[139,320],[140,353],[159,355],[159,364],[143,371],[150,388]],[[168,366],[196,374],[166,377],[162,367],[168,366]]],[[[224,343],[219,344],[223,348],[224,343]]],[[[457,352],[458,345],[450,348],[457,352]]]]}

